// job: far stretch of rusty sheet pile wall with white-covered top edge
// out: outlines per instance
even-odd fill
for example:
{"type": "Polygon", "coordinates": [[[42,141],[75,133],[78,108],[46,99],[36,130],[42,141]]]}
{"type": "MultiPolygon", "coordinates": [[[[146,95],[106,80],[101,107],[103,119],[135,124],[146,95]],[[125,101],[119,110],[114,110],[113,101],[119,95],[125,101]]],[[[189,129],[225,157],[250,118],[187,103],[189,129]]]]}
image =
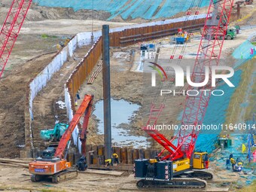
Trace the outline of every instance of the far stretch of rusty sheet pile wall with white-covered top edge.
{"type": "MultiPolygon", "coordinates": [[[[169,20],[160,20],[154,21],[150,23],[140,23],[131,26],[121,26],[114,29],[110,29],[111,33],[111,46],[113,47],[126,47],[130,44],[125,44],[122,42],[120,44],[121,39],[129,37],[132,35],[138,35],[142,39],[139,38],[131,38],[131,41],[136,39],[136,42],[139,41],[149,41],[155,38],[165,37],[166,35],[172,35],[177,33],[178,28],[183,29],[200,29],[200,26],[203,27],[205,22],[206,14],[200,14],[197,16],[191,15],[190,17],[178,17],[175,19],[169,20]],[[184,22],[186,21],[186,22],[184,22]],[[191,25],[191,26],[190,26],[191,25]],[[197,26],[200,25],[200,26],[197,26]],[[188,27],[187,27],[188,26],[188,27]],[[170,30],[169,32],[166,30],[170,30]],[[161,34],[163,33],[163,34],[161,34]],[[130,34],[130,35],[129,35],[130,34]],[[137,41],[138,40],[138,41],[137,41]]],[[[81,32],[78,33],[78,46],[84,46],[86,44],[90,44],[91,41],[91,32],[81,32]]],[[[102,35],[102,31],[93,32],[94,41],[96,41],[102,35]]]]}

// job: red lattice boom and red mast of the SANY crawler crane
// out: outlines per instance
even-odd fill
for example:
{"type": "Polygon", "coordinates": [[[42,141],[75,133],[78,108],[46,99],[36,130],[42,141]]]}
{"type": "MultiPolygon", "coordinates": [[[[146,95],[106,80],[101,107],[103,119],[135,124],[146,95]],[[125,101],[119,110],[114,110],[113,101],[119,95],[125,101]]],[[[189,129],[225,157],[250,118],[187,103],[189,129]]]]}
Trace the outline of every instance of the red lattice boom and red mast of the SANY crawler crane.
{"type": "MultiPolygon", "coordinates": [[[[211,66],[218,66],[232,7],[233,0],[211,0],[208,13],[206,14],[205,26],[203,28],[197,58],[191,75],[191,80],[194,83],[204,81],[205,66],[209,66],[210,68],[211,66]]],[[[209,82],[211,82],[211,79],[209,82]]],[[[186,97],[181,125],[194,126],[194,129],[180,129],[172,140],[166,139],[166,137],[157,130],[151,129],[152,126],[157,124],[158,117],[164,108],[163,104],[160,105],[159,108],[156,108],[154,104],[151,105],[150,117],[147,126],[145,126],[143,130],[163,146],[163,151],[169,152],[164,157],[161,157],[163,155],[163,151],[161,151],[161,153],[158,154],[161,160],[177,160],[181,157],[190,158],[194,153],[199,134],[197,125],[203,123],[211,95],[210,91],[205,94],[203,91],[205,89],[212,90],[212,87],[210,84],[206,84],[205,87],[190,86],[188,88],[188,90],[197,90],[200,94],[198,96],[186,97]],[[176,145],[173,144],[174,141],[177,143],[176,145]]]]}

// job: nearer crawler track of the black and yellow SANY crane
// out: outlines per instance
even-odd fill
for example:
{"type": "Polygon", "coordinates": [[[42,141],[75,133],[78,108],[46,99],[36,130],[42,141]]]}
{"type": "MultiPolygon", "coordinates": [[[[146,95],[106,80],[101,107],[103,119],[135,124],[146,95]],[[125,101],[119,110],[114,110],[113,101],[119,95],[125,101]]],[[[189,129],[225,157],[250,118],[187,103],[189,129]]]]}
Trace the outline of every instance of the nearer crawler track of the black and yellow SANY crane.
{"type": "Polygon", "coordinates": [[[137,187],[139,189],[157,188],[184,188],[184,189],[203,189],[207,182],[200,178],[172,178],[170,181],[152,181],[152,180],[139,180],[137,187]]]}

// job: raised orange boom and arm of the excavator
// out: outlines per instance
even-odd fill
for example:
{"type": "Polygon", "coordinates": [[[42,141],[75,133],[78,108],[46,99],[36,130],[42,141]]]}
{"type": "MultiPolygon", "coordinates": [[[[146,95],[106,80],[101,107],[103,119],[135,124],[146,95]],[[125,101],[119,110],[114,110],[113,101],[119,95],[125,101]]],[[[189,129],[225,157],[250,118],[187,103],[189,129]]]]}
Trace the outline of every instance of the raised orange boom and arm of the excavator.
{"type": "Polygon", "coordinates": [[[84,123],[83,129],[81,131],[81,141],[82,141],[82,153],[85,154],[85,141],[86,141],[86,133],[87,133],[87,126],[89,122],[90,112],[93,105],[93,96],[85,95],[84,100],[79,106],[78,110],[75,112],[74,117],[72,118],[71,122],[69,123],[69,127],[66,132],[62,135],[62,138],[59,141],[58,148],[54,154],[54,157],[63,157],[63,152],[65,151],[66,145],[71,139],[72,133],[75,130],[75,126],[78,125],[80,118],[84,114],[84,123]],[[84,145],[84,148],[83,148],[84,145]]]}

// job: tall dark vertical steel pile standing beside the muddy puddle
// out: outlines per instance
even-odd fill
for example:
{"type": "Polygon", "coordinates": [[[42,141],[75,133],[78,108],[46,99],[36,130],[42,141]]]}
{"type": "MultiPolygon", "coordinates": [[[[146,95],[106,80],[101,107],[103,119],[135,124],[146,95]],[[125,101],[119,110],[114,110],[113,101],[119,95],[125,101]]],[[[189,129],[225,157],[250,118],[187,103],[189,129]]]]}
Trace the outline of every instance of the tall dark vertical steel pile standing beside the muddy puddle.
{"type": "Polygon", "coordinates": [[[103,57],[103,99],[104,99],[104,142],[105,159],[111,158],[111,95],[110,95],[110,58],[109,58],[109,26],[102,26],[103,57]]]}

